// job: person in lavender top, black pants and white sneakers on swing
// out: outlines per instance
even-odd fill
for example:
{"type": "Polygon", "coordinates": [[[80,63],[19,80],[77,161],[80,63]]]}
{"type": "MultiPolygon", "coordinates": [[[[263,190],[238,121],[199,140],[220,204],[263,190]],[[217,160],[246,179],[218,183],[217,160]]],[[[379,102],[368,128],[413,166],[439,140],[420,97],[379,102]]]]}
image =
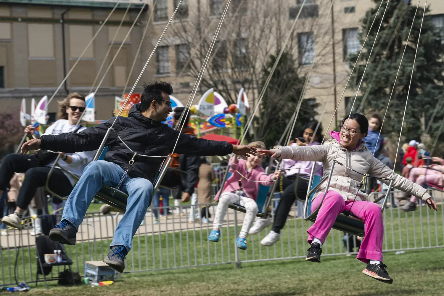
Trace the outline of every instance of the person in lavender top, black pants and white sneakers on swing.
{"type": "MultiPolygon", "coordinates": [[[[289,146],[311,146],[321,145],[319,142],[322,139],[321,127],[317,129],[317,122],[307,123],[301,131],[301,137],[296,138],[296,142],[289,144],[289,146]],[[315,132],[316,130],[316,132],[315,132]],[[303,139],[303,142],[301,141],[303,139]]],[[[284,159],[281,163],[281,168],[285,172],[285,177],[282,180],[282,196],[277,205],[276,214],[274,216],[273,228],[261,241],[261,244],[267,247],[274,245],[281,237],[281,229],[285,226],[291,206],[296,201],[296,196],[305,200],[307,194],[308,182],[310,178],[311,168],[313,162],[295,161],[292,159],[284,159]],[[296,185],[297,175],[302,179],[296,185]],[[295,189],[297,190],[295,192],[295,189]]],[[[317,162],[315,167],[315,174],[322,175],[322,162],[317,162]]],[[[298,203],[298,212],[303,208],[303,203],[298,203]]],[[[250,229],[250,234],[256,234],[271,225],[271,219],[257,219],[253,227],[250,229]]]]}

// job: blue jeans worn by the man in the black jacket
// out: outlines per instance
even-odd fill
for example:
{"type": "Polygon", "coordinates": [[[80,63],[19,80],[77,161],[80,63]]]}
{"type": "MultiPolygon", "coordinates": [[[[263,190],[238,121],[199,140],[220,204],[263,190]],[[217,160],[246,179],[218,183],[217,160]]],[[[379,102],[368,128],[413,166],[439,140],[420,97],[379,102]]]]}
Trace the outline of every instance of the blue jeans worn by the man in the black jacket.
{"type": "MultiPolygon", "coordinates": [[[[102,185],[117,186],[124,173],[125,171],[113,162],[104,160],[91,162],[72,189],[63,209],[62,220],[71,222],[78,230],[95,193],[102,185]]],[[[131,178],[126,175],[120,189],[128,193],[127,210],[115,229],[110,247],[124,245],[129,251],[134,234],[151,204],[154,188],[147,179],[131,178]]]]}

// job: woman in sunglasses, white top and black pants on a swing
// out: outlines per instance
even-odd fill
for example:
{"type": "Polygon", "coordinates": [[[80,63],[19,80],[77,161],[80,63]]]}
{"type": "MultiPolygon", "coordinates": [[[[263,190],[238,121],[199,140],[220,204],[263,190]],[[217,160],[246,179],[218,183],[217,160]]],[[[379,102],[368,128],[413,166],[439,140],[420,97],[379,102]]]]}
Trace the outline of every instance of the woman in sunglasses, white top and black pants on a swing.
{"type": "MultiPolygon", "coordinates": [[[[85,110],[85,97],[78,93],[69,94],[62,102],[59,102],[59,120],[49,126],[42,136],[51,134],[62,134],[70,132],[81,132],[85,126],[78,124],[82,112],[85,110]]],[[[25,133],[34,134],[34,126],[27,126],[25,133]]],[[[56,150],[57,151],[57,150],[56,150]]],[[[59,165],[72,174],[79,176],[88,162],[92,160],[95,152],[61,153],[59,165]]],[[[54,159],[56,155],[54,155],[54,159]]],[[[17,196],[17,207],[14,213],[3,217],[4,224],[21,229],[21,217],[28,208],[29,203],[36,194],[37,187],[45,186],[49,170],[54,161],[45,163],[37,155],[9,154],[0,166],[0,193],[9,185],[9,181],[14,173],[25,173],[23,184],[17,196]]],[[[71,192],[75,180],[62,170],[53,171],[49,179],[48,186],[55,193],[67,196],[71,192]]]]}

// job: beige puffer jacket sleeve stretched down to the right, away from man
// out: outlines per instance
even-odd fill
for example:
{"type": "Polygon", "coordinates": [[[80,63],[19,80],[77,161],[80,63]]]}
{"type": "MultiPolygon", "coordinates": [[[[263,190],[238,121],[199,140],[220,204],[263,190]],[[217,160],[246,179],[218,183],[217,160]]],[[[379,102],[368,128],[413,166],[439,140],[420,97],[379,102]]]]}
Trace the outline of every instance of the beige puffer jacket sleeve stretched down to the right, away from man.
{"type": "MultiPolygon", "coordinates": [[[[377,158],[373,158],[373,163],[370,166],[369,175],[373,177],[384,176],[383,178],[390,178],[392,176],[392,170],[382,163],[377,158]]],[[[402,177],[399,174],[393,174],[393,187],[404,191],[408,194],[414,195],[417,198],[423,199],[424,201],[430,198],[430,195],[427,193],[427,189],[422,186],[413,183],[407,178],[402,177]]],[[[381,182],[389,185],[390,180],[380,179],[381,182]]]]}

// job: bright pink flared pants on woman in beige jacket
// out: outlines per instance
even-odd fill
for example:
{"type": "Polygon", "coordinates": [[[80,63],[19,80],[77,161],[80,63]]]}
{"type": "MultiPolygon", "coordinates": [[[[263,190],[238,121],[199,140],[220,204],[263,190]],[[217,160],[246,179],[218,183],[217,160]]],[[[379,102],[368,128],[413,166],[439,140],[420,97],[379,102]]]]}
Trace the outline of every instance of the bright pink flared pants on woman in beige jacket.
{"type": "MultiPolygon", "coordinates": [[[[319,194],[313,200],[311,204],[312,211],[317,209],[321,203],[323,194],[319,194]]],[[[384,225],[381,208],[370,201],[355,201],[353,206],[352,203],[353,201],[344,201],[344,198],[338,192],[329,190],[321,209],[317,213],[316,222],[307,230],[309,234],[308,243],[311,244],[315,237],[324,243],[337,215],[342,211],[350,210],[353,216],[364,221],[365,236],[361,242],[357,259],[364,263],[369,263],[369,260],[382,261],[384,225]]]]}

